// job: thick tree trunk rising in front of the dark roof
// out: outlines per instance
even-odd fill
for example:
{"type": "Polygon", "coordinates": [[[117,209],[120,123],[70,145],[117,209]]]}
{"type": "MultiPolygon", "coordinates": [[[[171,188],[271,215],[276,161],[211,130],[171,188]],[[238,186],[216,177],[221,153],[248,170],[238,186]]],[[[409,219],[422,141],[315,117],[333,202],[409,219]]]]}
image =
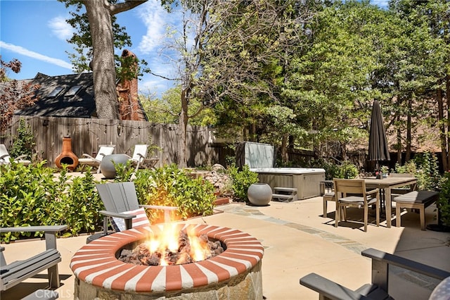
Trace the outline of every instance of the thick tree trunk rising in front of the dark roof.
{"type": "Polygon", "coordinates": [[[94,60],[94,95],[98,118],[119,119],[111,15],[104,0],[83,1],[89,19],[94,60]]]}

